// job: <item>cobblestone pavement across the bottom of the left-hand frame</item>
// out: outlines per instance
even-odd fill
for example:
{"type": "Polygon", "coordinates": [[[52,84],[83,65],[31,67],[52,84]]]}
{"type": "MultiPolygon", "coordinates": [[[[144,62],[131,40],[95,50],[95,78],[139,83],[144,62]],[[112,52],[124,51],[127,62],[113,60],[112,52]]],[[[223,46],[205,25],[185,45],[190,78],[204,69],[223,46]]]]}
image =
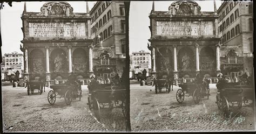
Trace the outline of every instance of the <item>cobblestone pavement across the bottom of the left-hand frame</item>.
{"type": "Polygon", "coordinates": [[[2,87],[4,132],[107,132],[125,131],[126,119],[122,109],[103,109],[100,122],[87,105],[89,91],[82,86],[82,98],[66,105],[64,98],[57,96],[50,105],[47,99],[51,89],[45,88],[40,95],[26,93],[26,88],[2,87]],[[8,129],[13,126],[12,129],[8,129]]]}

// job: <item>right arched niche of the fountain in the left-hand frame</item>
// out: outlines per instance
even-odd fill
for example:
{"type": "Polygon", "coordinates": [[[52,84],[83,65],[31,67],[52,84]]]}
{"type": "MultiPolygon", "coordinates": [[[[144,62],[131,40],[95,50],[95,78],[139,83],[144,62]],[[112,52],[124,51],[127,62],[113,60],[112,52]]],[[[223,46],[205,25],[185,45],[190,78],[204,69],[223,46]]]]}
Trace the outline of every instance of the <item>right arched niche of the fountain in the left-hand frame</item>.
{"type": "Polygon", "coordinates": [[[72,68],[74,72],[86,72],[87,53],[82,48],[76,48],[72,56],[72,68]]]}

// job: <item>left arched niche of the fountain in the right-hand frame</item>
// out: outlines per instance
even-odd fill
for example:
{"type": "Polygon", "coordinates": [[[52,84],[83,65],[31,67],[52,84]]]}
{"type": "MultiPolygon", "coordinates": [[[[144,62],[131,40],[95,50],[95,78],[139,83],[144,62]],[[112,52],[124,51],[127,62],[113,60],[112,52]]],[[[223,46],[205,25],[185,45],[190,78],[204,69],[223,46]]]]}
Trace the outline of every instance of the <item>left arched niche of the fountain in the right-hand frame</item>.
{"type": "Polygon", "coordinates": [[[173,71],[173,58],[172,52],[167,47],[156,49],[156,69],[159,79],[164,75],[170,75],[173,71]]]}

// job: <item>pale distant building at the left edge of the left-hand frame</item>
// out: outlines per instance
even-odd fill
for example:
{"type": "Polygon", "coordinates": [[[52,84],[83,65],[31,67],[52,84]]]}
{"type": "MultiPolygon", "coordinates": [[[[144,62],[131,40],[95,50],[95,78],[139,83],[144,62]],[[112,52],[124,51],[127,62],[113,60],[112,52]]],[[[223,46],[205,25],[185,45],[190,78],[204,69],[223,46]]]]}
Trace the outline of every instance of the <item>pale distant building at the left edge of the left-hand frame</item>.
{"type": "Polygon", "coordinates": [[[18,52],[5,53],[2,57],[2,79],[10,79],[11,75],[19,72],[19,77],[23,77],[24,63],[23,54],[18,52]]]}

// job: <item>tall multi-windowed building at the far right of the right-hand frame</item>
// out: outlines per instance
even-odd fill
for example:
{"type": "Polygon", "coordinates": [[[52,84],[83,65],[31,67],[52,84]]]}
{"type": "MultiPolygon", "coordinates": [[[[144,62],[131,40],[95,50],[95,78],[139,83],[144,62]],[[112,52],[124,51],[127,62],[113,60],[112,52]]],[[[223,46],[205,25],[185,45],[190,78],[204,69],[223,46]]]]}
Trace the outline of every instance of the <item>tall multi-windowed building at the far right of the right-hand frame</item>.
{"type": "Polygon", "coordinates": [[[218,9],[221,73],[233,79],[253,75],[253,4],[223,2],[218,9]]]}

